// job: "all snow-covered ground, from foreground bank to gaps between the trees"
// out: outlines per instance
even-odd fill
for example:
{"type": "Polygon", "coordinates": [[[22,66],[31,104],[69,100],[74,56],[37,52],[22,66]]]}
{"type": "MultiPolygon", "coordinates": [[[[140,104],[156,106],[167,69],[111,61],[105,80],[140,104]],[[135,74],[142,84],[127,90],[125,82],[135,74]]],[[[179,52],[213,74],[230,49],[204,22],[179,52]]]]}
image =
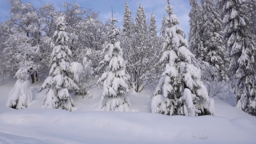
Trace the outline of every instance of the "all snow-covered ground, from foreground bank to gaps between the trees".
{"type": "Polygon", "coordinates": [[[256,117],[234,108],[234,96],[215,99],[215,116],[165,116],[150,113],[152,88],[131,93],[133,112],[98,108],[102,90],[92,97],[72,94],[76,110],[42,109],[46,90],[31,84],[33,101],[22,110],[4,106],[16,79],[0,86],[0,144],[255,144],[256,117]]]}

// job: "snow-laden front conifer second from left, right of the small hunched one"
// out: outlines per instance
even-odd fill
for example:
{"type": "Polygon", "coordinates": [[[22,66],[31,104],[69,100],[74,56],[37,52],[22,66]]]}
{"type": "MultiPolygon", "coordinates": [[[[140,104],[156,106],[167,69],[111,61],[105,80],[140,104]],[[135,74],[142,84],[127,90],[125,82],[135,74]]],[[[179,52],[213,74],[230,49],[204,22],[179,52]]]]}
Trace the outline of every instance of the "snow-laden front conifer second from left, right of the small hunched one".
{"type": "Polygon", "coordinates": [[[82,65],[78,63],[70,67],[72,52],[68,47],[70,40],[69,34],[66,32],[64,16],[59,16],[56,24],[58,27],[51,44],[53,47],[51,54],[52,66],[49,76],[38,92],[49,88],[45,94],[43,108],[62,108],[71,111],[74,107],[74,102],[68,90],[78,90],[79,88],[69,75],[73,74],[73,78],[78,81],[78,75],[81,73],[82,65]]]}

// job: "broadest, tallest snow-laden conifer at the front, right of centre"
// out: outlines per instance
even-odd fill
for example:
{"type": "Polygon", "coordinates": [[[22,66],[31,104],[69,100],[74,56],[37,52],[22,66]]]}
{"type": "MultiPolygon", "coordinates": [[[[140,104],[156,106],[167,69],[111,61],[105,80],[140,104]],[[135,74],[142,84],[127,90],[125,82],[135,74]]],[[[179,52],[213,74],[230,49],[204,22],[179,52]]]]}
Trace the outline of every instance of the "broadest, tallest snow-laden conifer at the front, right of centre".
{"type": "Polygon", "coordinates": [[[165,42],[160,63],[166,66],[151,102],[153,113],[201,116],[214,114],[214,100],[200,81],[200,69],[192,61],[184,31],[172,6],[166,6],[165,42]]]}

